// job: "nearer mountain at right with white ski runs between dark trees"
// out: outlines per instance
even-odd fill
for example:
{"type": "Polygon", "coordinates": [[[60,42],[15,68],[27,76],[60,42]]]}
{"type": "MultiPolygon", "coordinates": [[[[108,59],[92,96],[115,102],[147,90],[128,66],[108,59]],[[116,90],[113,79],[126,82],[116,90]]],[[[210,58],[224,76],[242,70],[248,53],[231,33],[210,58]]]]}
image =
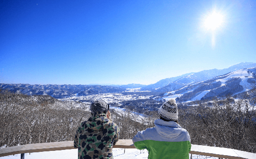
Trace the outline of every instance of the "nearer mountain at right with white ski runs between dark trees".
{"type": "Polygon", "coordinates": [[[179,102],[236,95],[249,91],[256,82],[256,67],[236,70],[212,79],[186,85],[176,91],[166,92],[164,99],[177,98],[179,102]]]}

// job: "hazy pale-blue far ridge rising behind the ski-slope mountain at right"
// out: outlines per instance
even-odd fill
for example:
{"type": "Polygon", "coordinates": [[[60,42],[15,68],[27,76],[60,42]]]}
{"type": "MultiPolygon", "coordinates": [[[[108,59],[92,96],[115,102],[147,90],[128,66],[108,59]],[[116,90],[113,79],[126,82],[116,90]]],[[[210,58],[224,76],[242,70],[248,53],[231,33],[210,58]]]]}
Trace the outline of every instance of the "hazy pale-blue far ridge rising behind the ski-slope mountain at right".
{"type": "Polygon", "coordinates": [[[256,67],[256,63],[253,62],[244,62],[237,65],[230,66],[229,68],[224,69],[209,69],[203,70],[196,73],[187,73],[178,77],[172,77],[168,79],[162,79],[158,82],[148,85],[141,90],[148,90],[148,91],[158,91],[158,92],[166,92],[166,91],[175,91],[179,88],[182,88],[186,85],[197,83],[200,81],[204,81],[207,79],[212,79],[214,77],[243,69],[243,68],[253,68],[256,67]]]}

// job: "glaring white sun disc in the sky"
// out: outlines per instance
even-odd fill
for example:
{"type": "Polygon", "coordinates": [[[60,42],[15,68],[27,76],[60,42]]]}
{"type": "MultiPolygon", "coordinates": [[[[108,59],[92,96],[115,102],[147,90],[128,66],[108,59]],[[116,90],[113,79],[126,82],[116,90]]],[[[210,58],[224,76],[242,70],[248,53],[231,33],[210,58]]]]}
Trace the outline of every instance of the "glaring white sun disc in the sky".
{"type": "Polygon", "coordinates": [[[213,12],[205,19],[205,27],[207,29],[215,30],[223,23],[223,15],[217,12],[213,12]]]}

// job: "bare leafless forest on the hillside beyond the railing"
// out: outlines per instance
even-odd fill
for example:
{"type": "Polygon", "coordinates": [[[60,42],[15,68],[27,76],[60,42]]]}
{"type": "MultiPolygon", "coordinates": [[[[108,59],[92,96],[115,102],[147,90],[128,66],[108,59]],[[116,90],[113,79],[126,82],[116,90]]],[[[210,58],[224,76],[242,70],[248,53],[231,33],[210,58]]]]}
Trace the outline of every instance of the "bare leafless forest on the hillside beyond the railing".
{"type": "MultiPolygon", "coordinates": [[[[224,97],[197,101],[193,106],[179,103],[179,125],[188,130],[192,144],[256,152],[255,94],[253,89],[241,99],[224,97]]],[[[0,147],[73,140],[78,125],[90,117],[88,108],[89,104],[82,102],[1,91],[0,147]]],[[[131,139],[138,131],[153,127],[154,120],[159,118],[156,110],[145,114],[129,109],[110,111],[120,127],[120,139],[131,139]]]]}

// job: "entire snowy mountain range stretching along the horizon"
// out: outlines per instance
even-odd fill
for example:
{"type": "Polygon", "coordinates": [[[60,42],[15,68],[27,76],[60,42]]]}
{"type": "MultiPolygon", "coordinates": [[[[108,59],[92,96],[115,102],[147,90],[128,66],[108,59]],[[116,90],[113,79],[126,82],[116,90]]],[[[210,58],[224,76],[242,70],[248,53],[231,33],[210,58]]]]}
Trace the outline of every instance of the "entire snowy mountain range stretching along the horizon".
{"type": "Polygon", "coordinates": [[[208,99],[226,94],[239,94],[255,81],[256,63],[240,63],[225,69],[210,69],[159,80],[150,85],[30,85],[0,84],[0,89],[27,95],[51,95],[54,98],[118,93],[141,88],[162,94],[159,98],[177,98],[180,102],[208,99]]]}

